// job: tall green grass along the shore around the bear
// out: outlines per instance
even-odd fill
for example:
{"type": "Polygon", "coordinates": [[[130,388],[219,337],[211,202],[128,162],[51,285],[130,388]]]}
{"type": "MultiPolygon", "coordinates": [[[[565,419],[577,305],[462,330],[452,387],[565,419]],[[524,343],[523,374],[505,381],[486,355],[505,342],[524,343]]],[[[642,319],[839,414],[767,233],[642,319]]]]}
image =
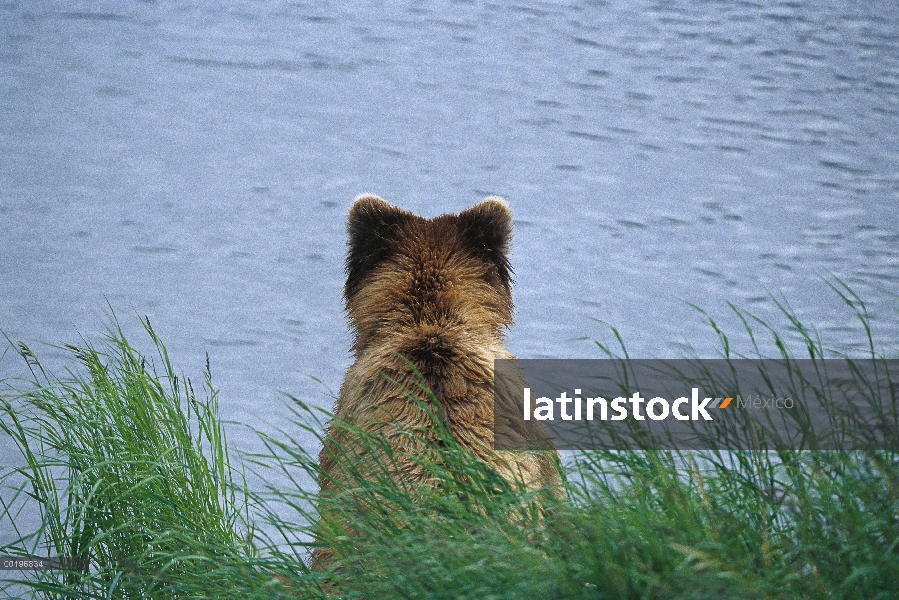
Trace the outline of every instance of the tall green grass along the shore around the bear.
{"type": "MultiPolygon", "coordinates": [[[[833,287],[860,319],[870,355],[882,356],[864,304],[833,287]]],[[[800,356],[833,355],[782,308],[802,340],[800,356]]],[[[773,341],[781,357],[793,356],[782,334],[735,310],[751,340],[745,355],[773,341]]],[[[743,355],[709,322],[722,355],[743,355]]],[[[383,440],[357,432],[359,444],[381,450],[371,455],[386,458],[363,464],[348,451],[352,485],[318,497],[300,483],[319,477],[315,457],[286,433],[260,434],[267,452],[242,464],[289,483],[249,489],[229,457],[208,373],[179,376],[145,329],[153,356],[113,321],[98,347],[69,348],[72,369],[60,377],[17,348],[34,377],[7,381],[0,400],[0,439],[25,464],[3,474],[0,526],[15,525],[26,498],[42,525],[18,531],[0,555],[90,562],[86,572],[22,577],[37,597],[897,595],[896,452],[585,451],[567,467],[559,500],[508,484],[451,436],[421,459],[437,485],[398,483],[387,475],[383,440]],[[313,539],[343,557],[327,572],[303,564],[313,539]]],[[[321,435],[327,415],[297,399],[289,408],[296,431],[321,435]]]]}

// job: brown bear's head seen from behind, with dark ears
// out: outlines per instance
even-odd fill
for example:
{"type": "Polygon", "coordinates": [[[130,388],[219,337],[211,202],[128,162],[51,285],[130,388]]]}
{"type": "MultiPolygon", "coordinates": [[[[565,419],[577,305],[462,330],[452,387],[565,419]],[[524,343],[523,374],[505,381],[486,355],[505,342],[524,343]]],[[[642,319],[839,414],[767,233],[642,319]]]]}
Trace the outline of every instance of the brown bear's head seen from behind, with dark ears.
{"type": "Polygon", "coordinates": [[[398,353],[425,372],[502,344],[512,323],[512,212],[503,200],[425,219],[366,194],[353,202],[347,232],[344,299],[357,357],[398,353]]]}

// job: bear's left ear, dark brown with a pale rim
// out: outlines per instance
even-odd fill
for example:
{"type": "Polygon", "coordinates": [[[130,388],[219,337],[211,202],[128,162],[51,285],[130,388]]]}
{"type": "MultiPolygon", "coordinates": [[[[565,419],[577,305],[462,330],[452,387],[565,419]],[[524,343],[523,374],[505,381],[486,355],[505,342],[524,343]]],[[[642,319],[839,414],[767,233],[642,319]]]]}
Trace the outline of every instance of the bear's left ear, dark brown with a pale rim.
{"type": "Polygon", "coordinates": [[[384,202],[373,194],[362,194],[353,201],[347,217],[346,285],[343,296],[349,300],[368,273],[393,252],[393,242],[412,213],[384,202]]]}

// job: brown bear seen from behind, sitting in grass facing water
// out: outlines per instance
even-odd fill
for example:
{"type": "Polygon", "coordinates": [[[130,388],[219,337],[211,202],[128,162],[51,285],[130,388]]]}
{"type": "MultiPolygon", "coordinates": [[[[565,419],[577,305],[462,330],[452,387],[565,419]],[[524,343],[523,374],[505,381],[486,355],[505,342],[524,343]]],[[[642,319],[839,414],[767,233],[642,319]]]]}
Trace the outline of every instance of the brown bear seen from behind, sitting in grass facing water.
{"type": "MultiPolygon", "coordinates": [[[[557,452],[493,449],[493,361],[513,358],[503,346],[513,308],[506,203],[490,197],[458,215],[425,219],[362,195],[347,232],[344,301],[355,362],[335,418],[383,436],[391,474],[403,481],[430,483],[415,459],[423,440],[436,436],[436,413],[460,446],[510,482],[558,486],[557,452]],[[422,382],[432,395],[422,393],[422,382]],[[430,414],[423,407],[429,397],[436,401],[430,414]]],[[[347,444],[346,430],[329,428],[319,456],[323,493],[347,479],[334,450],[345,452],[347,444]]],[[[329,557],[330,550],[316,549],[313,567],[329,557]]]]}

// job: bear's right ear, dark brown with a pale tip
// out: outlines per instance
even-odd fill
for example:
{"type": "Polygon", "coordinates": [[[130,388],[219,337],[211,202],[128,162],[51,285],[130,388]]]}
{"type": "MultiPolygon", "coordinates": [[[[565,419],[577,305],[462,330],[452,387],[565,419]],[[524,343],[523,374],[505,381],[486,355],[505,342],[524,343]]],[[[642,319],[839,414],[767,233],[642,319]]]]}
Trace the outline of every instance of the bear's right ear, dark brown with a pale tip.
{"type": "Polygon", "coordinates": [[[491,196],[459,213],[459,231],[468,247],[496,267],[499,280],[511,290],[512,211],[502,198],[491,196]]]}

